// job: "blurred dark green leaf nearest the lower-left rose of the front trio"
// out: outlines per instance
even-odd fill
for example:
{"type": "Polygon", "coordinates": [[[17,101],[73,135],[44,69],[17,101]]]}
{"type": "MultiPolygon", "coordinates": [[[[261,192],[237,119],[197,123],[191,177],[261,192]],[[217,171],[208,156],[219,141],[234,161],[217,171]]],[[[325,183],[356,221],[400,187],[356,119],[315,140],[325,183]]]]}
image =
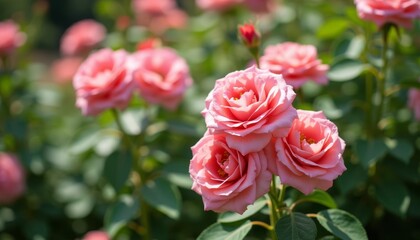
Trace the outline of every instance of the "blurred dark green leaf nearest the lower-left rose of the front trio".
{"type": "Polygon", "coordinates": [[[181,194],[179,189],[165,179],[156,179],[148,182],[141,189],[144,200],[166,214],[168,217],[178,219],[181,210],[181,194]]]}

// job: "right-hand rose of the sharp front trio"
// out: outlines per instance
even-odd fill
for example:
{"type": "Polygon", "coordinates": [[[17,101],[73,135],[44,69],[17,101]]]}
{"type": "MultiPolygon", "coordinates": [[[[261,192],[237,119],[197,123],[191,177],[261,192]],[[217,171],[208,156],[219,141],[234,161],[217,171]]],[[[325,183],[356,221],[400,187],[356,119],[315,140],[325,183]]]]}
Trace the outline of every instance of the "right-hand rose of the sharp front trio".
{"type": "Polygon", "coordinates": [[[327,190],[346,170],[342,156],[345,143],[337,126],[322,112],[297,112],[289,134],[275,139],[277,160],[269,162],[269,169],[283,184],[304,194],[314,188],[327,190]]]}

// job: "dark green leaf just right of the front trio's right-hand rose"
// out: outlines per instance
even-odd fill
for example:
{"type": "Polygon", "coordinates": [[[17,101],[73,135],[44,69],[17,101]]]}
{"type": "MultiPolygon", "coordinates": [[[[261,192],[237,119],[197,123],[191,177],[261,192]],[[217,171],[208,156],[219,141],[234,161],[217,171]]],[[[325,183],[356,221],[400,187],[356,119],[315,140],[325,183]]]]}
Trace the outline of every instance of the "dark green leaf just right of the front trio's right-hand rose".
{"type": "Polygon", "coordinates": [[[363,140],[358,139],[355,145],[355,153],[362,165],[367,168],[376,163],[387,152],[387,146],[382,139],[363,140]]]}

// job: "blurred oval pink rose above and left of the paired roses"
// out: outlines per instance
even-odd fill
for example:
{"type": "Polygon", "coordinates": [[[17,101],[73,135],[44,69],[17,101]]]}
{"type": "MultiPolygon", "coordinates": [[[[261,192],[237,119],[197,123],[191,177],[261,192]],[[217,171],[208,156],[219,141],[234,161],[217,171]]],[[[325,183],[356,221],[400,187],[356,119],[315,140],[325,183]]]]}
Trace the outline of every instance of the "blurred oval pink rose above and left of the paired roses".
{"type": "Polygon", "coordinates": [[[82,20],[70,26],[61,38],[65,55],[86,54],[96,47],[106,34],[105,27],[94,20],[82,20]]]}

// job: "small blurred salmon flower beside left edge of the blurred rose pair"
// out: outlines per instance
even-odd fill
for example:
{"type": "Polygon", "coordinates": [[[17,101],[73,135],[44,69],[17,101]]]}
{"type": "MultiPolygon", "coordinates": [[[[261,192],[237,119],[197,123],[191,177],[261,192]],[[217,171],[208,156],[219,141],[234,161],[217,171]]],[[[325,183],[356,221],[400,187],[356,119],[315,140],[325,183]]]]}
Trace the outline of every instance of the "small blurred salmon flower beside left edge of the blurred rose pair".
{"type": "Polygon", "coordinates": [[[58,83],[71,81],[83,59],[80,57],[65,57],[55,60],[51,65],[51,75],[58,83]]]}

